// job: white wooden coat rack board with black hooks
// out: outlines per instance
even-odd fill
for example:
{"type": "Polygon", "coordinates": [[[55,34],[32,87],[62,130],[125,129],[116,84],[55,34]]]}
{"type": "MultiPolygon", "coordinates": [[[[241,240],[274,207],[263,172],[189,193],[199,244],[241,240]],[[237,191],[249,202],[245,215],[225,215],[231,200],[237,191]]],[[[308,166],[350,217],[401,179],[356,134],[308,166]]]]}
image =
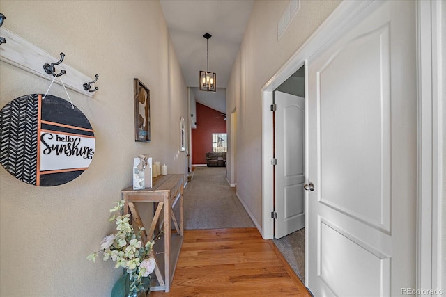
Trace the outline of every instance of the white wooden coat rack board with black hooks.
{"type": "MultiPolygon", "coordinates": [[[[60,61],[58,70],[56,70],[57,73],[55,74],[60,74],[61,70],[66,72],[63,74],[63,83],[66,88],[75,90],[76,92],[89,97],[93,97],[95,94],[93,90],[97,89],[94,86],[93,79],[63,63],[63,57],[55,58],[54,56],[51,56],[43,49],[40,49],[40,47],[24,40],[19,35],[16,35],[6,28],[0,28],[0,36],[8,40],[7,43],[0,45],[0,61],[19,67],[22,70],[36,74],[49,81],[54,79],[53,74],[51,71],[48,74],[43,66],[49,63],[48,69],[51,70],[51,66],[54,67],[54,65],[57,65],[58,63],[54,61],[60,61]],[[89,89],[85,90],[84,83],[89,81],[91,82],[89,89]]],[[[61,85],[59,79],[55,79],[54,83],[61,85]]]]}

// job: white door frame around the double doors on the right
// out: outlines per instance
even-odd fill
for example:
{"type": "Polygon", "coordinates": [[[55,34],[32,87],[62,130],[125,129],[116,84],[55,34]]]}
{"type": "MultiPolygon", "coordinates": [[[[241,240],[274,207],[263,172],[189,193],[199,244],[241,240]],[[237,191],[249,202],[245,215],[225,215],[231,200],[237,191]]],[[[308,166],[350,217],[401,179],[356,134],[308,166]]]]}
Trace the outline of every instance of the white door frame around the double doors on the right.
{"type": "MultiPolygon", "coordinates": [[[[441,1],[417,0],[417,288],[442,288],[442,7],[441,1]],[[432,38],[433,36],[433,38],[432,38]]],[[[352,19],[379,6],[379,1],[343,1],[293,56],[261,89],[262,100],[262,236],[272,239],[274,219],[271,165],[273,127],[272,93],[297,71],[309,56],[321,49],[337,32],[349,29],[352,19]]],[[[446,4],[445,4],[446,5],[446,4]]],[[[443,16],[445,17],[445,16],[443,16]]],[[[305,65],[307,78],[307,65],[305,65]]],[[[306,82],[307,84],[307,82],[306,82]]],[[[307,87],[305,88],[307,106],[307,87]]],[[[305,128],[307,129],[307,127],[305,128]]],[[[305,131],[305,143],[308,133],[305,131]]],[[[307,147],[306,147],[307,151],[307,147]]],[[[306,164],[307,163],[306,156],[306,164]]],[[[307,177],[306,165],[305,175],[307,177]]],[[[306,205],[308,194],[305,195],[306,205]]],[[[308,214],[308,211],[305,211],[308,214]]],[[[306,245],[308,243],[305,234],[306,245]]],[[[305,247],[309,248],[308,246],[305,247]]],[[[307,257],[305,257],[307,266],[307,257]]],[[[307,279],[307,278],[306,278],[307,279]]],[[[415,288],[414,288],[415,289],[415,288]]]]}

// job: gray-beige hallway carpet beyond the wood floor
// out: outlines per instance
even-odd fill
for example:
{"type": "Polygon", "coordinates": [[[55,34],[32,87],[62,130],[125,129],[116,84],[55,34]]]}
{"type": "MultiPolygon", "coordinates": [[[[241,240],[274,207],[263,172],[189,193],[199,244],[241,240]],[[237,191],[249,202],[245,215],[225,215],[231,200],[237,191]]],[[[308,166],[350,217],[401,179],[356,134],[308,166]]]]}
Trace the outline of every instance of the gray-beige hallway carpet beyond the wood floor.
{"type": "Polygon", "coordinates": [[[195,168],[184,190],[184,226],[187,230],[254,227],[236,197],[236,188],[226,182],[225,167],[195,168]]]}

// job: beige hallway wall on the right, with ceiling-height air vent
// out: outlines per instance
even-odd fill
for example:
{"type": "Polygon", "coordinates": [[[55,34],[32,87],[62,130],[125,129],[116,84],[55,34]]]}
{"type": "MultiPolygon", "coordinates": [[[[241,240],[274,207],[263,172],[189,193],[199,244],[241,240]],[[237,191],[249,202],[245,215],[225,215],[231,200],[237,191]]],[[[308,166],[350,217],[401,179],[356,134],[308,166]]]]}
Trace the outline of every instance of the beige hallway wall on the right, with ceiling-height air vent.
{"type": "MultiPolygon", "coordinates": [[[[254,2],[243,43],[226,89],[226,111],[237,109],[237,194],[254,216],[258,226],[262,225],[261,88],[340,2],[301,1],[300,11],[279,41],[277,22],[289,1],[254,2]]],[[[231,131],[231,122],[227,121],[227,125],[227,130],[231,131]]],[[[231,166],[230,163],[228,172],[231,172],[231,166]]],[[[231,176],[229,180],[232,181],[231,176]]]]}

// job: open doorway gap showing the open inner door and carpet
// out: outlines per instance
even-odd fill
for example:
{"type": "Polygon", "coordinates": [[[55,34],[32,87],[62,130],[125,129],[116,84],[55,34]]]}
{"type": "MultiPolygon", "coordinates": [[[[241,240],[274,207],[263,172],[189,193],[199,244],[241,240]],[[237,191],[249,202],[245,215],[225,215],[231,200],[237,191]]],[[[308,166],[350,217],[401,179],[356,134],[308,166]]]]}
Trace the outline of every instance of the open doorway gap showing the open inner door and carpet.
{"type": "Polygon", "coordinates": [[[305,283],[305,66],[273,93],[273,242],[305,283]]]}

